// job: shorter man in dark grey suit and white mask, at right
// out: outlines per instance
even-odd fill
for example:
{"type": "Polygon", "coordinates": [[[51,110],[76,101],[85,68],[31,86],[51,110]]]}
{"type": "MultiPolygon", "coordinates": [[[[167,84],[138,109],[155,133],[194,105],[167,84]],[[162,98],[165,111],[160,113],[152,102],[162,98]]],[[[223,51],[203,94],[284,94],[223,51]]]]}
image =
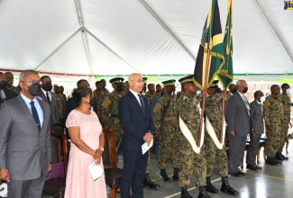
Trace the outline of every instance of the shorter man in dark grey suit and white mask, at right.
{"type": "Polygon", "coordinates": [[[250,133],[250,145],[247,149],[246,168],[251,170],[261,169],[255,163],[256,155],[260,147],[261,134],[263,133],[263,107],[261,104],[261,97],[263,93],[256,91],[254,93],[254,101],[250,103],[252,112],[252,133],[250,133]]]}

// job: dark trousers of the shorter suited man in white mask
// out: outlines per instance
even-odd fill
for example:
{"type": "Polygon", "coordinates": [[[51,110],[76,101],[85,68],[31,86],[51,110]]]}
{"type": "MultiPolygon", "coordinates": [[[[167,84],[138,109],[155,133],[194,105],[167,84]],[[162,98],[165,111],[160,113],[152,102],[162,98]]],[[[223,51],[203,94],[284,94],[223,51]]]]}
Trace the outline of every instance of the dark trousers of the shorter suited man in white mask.
{"type": "Polygon", "coordinates": [[[250,136],[251,142],[247,149],[246,164],[256,166],[256,155],[260,148],[261,134],[255,134],[255,137],[250,136]]]}

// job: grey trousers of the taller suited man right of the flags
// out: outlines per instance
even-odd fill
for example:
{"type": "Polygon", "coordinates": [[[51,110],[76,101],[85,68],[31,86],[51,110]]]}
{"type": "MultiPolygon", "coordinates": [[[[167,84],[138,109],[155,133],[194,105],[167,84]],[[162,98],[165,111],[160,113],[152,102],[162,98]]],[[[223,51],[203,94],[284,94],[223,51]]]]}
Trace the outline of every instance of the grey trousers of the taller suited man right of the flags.
{"type": "Polygon", "coordinates": [[[229,173],[239,172],[246,146],[246,136],[229,134],[229,173]]]}

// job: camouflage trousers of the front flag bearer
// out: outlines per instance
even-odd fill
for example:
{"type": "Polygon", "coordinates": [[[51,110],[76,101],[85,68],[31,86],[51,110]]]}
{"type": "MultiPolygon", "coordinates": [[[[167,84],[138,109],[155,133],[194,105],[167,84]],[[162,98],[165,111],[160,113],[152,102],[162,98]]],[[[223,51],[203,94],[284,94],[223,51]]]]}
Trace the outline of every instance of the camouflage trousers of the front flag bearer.
{"type": "Polygon", "coordinates": [[[206,186],[205,150],[201,148],[200,153],[196,154],[191,148],[188,140],[184,136],[183,138],[184,140],[180,139],[179,186],[188,186],[194,172],[197,176],[197,186],[206,186]]]}

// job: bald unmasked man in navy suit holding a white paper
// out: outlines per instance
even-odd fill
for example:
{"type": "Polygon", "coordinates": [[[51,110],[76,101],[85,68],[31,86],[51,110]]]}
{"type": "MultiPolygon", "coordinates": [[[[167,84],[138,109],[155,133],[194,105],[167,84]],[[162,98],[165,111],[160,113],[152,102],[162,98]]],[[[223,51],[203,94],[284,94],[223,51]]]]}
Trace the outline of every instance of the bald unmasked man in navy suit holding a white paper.
{"type": "Polygon", "coordinates": [[[121,179],[121,198],[130,198],[130,187],[134,198],[143,197],[143,178],[148,161],[148,152],[142,155],[142,144],[151,143],[154,124],[146,97],[140,93],[143,79],[140,74],[128,78],[130,85],[118,102],[118,115],[124,129],[124,171],[121,179]]]}

